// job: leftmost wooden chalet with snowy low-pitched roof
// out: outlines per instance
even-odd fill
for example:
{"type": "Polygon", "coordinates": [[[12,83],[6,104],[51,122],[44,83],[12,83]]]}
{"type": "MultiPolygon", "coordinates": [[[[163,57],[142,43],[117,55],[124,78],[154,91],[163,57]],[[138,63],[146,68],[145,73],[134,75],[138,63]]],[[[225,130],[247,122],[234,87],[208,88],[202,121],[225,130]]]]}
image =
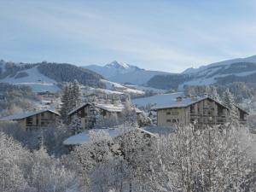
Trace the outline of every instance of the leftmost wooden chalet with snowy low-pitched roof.
{"type": "Polygon", "coordinates": [[[17,113],[0,120],[15,120],[26,130],[55,125],[56,117],[60,116],[55,111],[45,109],[41,111],[17,113]]]}

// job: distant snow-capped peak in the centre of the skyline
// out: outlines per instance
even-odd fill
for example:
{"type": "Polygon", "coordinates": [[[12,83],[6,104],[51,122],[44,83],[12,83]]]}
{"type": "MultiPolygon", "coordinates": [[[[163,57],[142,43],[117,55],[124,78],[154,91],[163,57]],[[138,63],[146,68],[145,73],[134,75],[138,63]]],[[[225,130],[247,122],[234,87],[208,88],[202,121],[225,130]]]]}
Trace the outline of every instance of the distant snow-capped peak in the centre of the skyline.
{"type": "Polygon", "coordinates": [[[154,75],[170,74],[159,71],[150,71],[136,66],[126,64],[124,62],[113,61],[101,67],[97,65],[85,66],[96,73],[101,74],[104,78],[113,82],[122,84],[146,84],[154,75]]]}

